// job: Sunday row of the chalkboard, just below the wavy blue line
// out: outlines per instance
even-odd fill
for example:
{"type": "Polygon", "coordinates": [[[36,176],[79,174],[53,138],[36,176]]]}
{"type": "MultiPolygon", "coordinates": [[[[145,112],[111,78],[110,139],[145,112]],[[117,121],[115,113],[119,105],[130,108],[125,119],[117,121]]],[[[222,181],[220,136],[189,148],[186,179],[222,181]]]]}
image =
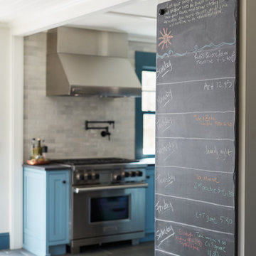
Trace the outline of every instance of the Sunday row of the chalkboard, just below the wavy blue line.
{"type": "MultiPolygon", "coordinates": [[[[232,43],[235,41],[233,40],[232,43]]],[[[235,46],[223,46],[217,50],[196,50],[194,53],[186,53],[185,56],[186,58],[167,53],[157,54],[158,85],[169,83],[170,78],[171,82],[186,82],[186,84],[194,80],[235,78],[235,46]]]]}

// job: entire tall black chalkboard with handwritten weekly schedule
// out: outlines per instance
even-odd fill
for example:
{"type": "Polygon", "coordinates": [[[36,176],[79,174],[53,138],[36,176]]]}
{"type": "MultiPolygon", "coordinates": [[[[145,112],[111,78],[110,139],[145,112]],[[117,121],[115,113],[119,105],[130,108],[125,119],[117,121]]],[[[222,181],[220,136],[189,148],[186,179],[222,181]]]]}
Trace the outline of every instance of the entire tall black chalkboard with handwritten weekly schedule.
{"type": "Polygon", "coordinates": [[[237,8],[158,6],[156,256],[235,255],[237,8]]]}

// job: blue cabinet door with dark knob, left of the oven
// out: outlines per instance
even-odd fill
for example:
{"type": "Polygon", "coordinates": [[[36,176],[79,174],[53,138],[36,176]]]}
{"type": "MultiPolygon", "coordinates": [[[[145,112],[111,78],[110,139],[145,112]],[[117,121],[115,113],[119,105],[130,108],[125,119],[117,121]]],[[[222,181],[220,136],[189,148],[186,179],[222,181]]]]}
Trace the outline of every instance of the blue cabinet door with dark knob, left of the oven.
{"type": "Polygon", "coordinates": [[[52,245],[68,242],[69,238],[69,171],[49,171],[47,174],[47,234],[52,245]]]}

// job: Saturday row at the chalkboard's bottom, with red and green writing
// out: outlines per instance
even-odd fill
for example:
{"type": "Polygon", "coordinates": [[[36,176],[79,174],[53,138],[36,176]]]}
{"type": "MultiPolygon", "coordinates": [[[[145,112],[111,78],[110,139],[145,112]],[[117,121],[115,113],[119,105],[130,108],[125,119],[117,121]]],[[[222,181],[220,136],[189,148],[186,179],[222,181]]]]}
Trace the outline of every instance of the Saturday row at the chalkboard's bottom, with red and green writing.
{"type": "Polygon", "coordinates": [[[155,244],[156,256],[213,256],[235,253],[233,234],[160,220],[156,227],[155,244]],[[170,251],[171,254],[166,254],[170,251]]]}

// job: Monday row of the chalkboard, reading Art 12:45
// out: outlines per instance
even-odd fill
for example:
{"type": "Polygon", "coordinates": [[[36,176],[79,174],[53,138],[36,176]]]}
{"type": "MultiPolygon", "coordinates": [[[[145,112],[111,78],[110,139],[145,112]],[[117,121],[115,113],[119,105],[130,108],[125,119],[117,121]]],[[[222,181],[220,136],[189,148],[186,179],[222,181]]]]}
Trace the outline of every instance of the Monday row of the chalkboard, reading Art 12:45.
{"type": "Polygon", "coordinates": [[[158,113],[223,112],[223,110],[234,112],[235,99],[232,97],[234,83],[233,78],[225,78],[157,85],[158,113]]]}

